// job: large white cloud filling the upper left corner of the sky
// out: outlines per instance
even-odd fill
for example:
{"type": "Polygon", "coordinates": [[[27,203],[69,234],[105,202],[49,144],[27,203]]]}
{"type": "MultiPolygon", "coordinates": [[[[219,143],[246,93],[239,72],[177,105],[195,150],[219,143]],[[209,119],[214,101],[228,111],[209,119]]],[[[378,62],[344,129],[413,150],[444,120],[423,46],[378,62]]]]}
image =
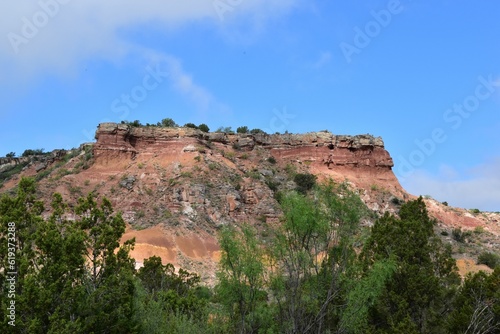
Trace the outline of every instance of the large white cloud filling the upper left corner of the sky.
{"type": "Polygon", "coordinates": [[[139,25],[171,33],[183,24],[206,20],[216,28],[235,18],[261,21],[297,1],[226,2],[235,4],[221,20],[212,0],[6,0],[0,2],[0,69],[9,72],[10,80],[45,71],[68,73],[89,58],[114,61],[126,55],[134,45],[123,38],[123,31],[139,25]]]}

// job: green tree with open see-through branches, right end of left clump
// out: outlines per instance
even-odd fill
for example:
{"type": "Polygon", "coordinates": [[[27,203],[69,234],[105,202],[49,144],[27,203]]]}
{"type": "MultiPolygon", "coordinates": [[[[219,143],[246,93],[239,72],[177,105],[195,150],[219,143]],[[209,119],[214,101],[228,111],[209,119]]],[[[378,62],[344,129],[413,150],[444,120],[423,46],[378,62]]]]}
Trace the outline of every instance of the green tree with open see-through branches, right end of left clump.
{"type": "Polygon", "coordinates": [[[87,233],[86,302],[81,310],[84,331],[130,332],[136,325],[132,321],[135,269],[129,256],[135,241],[120,246],[125,222],[120,214],[113,214],[107,198],[99,205],[91,193],[78,200],[75,211],[80,228],[87,233]]]}

